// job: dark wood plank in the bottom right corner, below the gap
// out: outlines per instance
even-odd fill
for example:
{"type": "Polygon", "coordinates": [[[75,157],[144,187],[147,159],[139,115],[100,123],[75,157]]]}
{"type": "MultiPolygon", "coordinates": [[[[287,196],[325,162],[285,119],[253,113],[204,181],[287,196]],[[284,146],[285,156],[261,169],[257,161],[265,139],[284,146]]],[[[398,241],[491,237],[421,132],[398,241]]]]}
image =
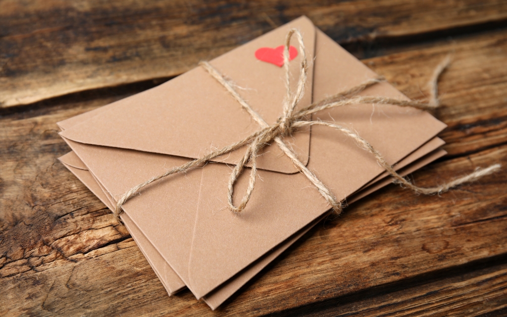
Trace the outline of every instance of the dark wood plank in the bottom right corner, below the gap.
{"type": "Polygon", "coordinates": [[[507,265],[495,265],[466,273],[456,269],[440,275],[444,277],[430,282],[425,280],[422,284],[420,281],[404,281],[399,285],[355,294],[351,298],[342,298],[325,305],[285,311],[280,316],[505,315],[507,265]],[[378,295],[375,296],[376,294],[378,295]]]}

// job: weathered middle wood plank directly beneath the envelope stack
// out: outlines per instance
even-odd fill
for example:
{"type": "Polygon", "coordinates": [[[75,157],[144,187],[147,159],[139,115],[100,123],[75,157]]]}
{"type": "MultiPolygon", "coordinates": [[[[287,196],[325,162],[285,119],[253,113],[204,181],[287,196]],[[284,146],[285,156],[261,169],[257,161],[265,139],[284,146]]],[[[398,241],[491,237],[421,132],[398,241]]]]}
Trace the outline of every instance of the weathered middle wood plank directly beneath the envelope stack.
{"type": "MultiPolygon", "coordinates": [[[[460,57],[456,62],[463,66],[451,67],[442,78],[442,91],[445,87],[454,89],[452,98],[444,95],[445,108],[438,113],[450,129],[453,120],[459,127],[461,118],[466,118],[466,124],[478,126],[485,120],[502,118],[505,97],[498,87],[507,78],[500,71],[494,73],[494,81],[478,80],[475,75],[480,72],[478,64],[489,65],[489,60],[505,63],[505,38],[507,33],[500,32],[458,41],[458,45],[478,45],[475,50],[468,46],[474,54],[457,55],[460,57]],[[454,88],[452,81],[466,89],[454,88]],[[488,97],[475,98],[473,103],[469,95],[474,91],[485,91],[488,97]],[[467,115],[462,107],[481,111],[467,115]]],[[[417,97],[411,92],[411,84],[426,82],[426,68],[438,63],[452,45],[419,50],[417,54],[394,54],[367,63],[373,61],[376,70],[394,82],[403,78],[407,69],[420,69],[413,80],[410,77],[399,85],[417,97]],[[413,66],[400,67],[402,63],[413,66]]],[[[496,72],[488,72],[493,71],[496,72]]],[[[31,112],[7,111],[0,118],[0,148],[7,149],[0,152],[0,289],[9,294],[0,297],[0,313],[283,312],[507,254],[507,193],[503,186],[507,174],[502,171],[442,197],[415,196],[390,186],[347,208],[342,217],[318,226],[219,311],[211,312],[189,292],[169,298],[128,233],[56,161],[68,148],[58,137],[55,123],[127,95],[129,89],[122,89],[125,88],[104,90],[103,96],[96,98],[93,94],[60,98],[57,104],[33,105],[26,109],[31,112]],[[76,101],[79,99],[86,100],[76,101]]],[[[467,137],[479,137],[487,128],[470,129],[467,137]]],[[[498,131],[505,134],[501,126],[498,131]]],[[[502,145],[501,138],[498,140],[490,139],[486,146],[470,149],[459,137],[448,137],[456,158],[416,173],[417,184],[434,184],[497,161],[505,166],[507,146],[502,145]],[[463,153],[475,154],[465,157],[461,156],[463,153]]],[[[463,287],[473,288],[474,283],[463,287]]],[[[473,292],[461,292],[457,286],[455,289],[456,294],[472,298],[473,292]]],[[[501,292],[500,288],[491,290],[495,294],[501,292]]],[[[495,307],[501,305],[499,302],[495,307]]]]}

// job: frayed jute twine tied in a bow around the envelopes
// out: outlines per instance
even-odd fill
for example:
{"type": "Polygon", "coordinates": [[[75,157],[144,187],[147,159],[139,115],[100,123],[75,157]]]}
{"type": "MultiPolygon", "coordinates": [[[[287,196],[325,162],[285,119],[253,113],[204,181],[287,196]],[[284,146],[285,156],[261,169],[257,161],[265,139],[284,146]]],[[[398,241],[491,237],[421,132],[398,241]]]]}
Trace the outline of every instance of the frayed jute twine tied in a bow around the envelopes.
{"type": "Polygon", "coordinates": [[[271,143],[276,143],[276,145],[282,150],[282,152],[288,156],[296,168],[302,172],[308,180],[313,184],[313,186],[319,191],[322,197],[328,201],[328,203],[332,206],[336,213],[340,214],[342,212],[343,206],[342,202],[338,201],[335,195],[329,190],[327,186],[325,186],[316,176],[310,171],[297,157],[296,153],[288,147],[285,142],[283,142],[282,137],[287,135],[292,135],[298,128],[308,127],[312,125],[323,125],[330,128],[334,128],[343,132],[345,135],[351,137],[355,140],[356,144],[370,153],[372,153],[377,159],[378,163],[394,178],[395,183],[399,183],[405,188],[410,188],[416,193],[422,194],[437,194],[442,193],[449,190],[452,187],[455,187],[459,184],[465,182],[473,182],[484,175],[491,174],[500,169],[500,164],[491,165],[485,169],[478,168],[473,173],[455,179],[449,183],[444,185],[431,187],[431,188],[422,188],[413,185],[409,180],[402,177],[398,174],[393,167],[388,164],[382,155],[375,150],[364,138],[360,137],[357,132],[349,129],[347,127],[340,126],[331,122],[324,122],[320,120],[307,120],[310,118],[312,114],[320,112],[325,109],[331,109],[336,107],[343,107],[345,105],[351,104],[364,104],[364,103],[377,103],[377,104],[392,104],[399,105],[401,107],[412,107],[421,110],[432,110],[439,107],[439,99],[438,99],[438,78],[444,71],[444,69],[450,63],[450,57],[447,56],[435,69],[432,78],[429,82],[430,85],[430,101],[427,103],[422,103],[419,101],[412,100],[402,100],[396,98],[385,98],[385,97],[370,97],[370,96],[356,96],[361,91],[366,88],[378,84],[382,82],[383,78],[375,78],[369,79],[364,83],[361,83],[351,89],[346,91],[342,91],[333,96],[327,97],[323,100],[314,102],[307,107],[296,111],[296,107],[299,101],[303,98],[304,88],[307,80],[308,73],[308,62],[305,53],[305,45],[303,43],[303,37],[301,33],[297,29],[291,29],[288,31],[287,36],[285,37],[284,43],[284,51],[283,51],[283,61],[284,61],[284,71],[285,71],[285,87],[286,87],[286,95],[283,101],[283,112],[282,116],[274,123],[273,125],[269,125],[266,121],[255,111],[250,105],[237,93],[237,91],[233,88],[233,84],[226,80],[220,72],[211,66],[206,61],[201,61],[199,63],[208,73],[211,75],[216,81],[218,81],[233,97],[236,99],[241,107],[255,120],[260,126],[261,129],[257,132],[254,132],[247,137],[243,138],[239,142],[231,144],[223,149],[213,151],[208,155],[205,155],[199,159],[195,159],[189,161],[181,166],[175,167],[173,169],[167,170],[166,172],[156,175],[155,177],[147,180],[144,183],[141,183],[120,197],[116,204],[116,208],[114,210],[114,215],[119,222],[120,214],[122,212],[122,205],[131,197],[135,196],[136,193],[139,192],[143,187],[165,178],[169,175],[176,173],[184,173],[196,167],[202,166],[207,161],[210,161],[216,157],[222,156],[224,154],[230,153],[234,150],[237,150],[243,146],[247,146],[245,154],[237,163],[237,165],[233,168],[231,177],[229,179],[228,184],[228,204],[229,208],[236,213],[240,213],[247,205],[250,196],[253,192],[253,188],[255,187],[255,182],[257,178],[257,157],[259,156],[259,152],[262,151],[266,145],[271,143]],[[299,43],[299,52],[301,55],[301,67],[300,67],[300,76],[298,80],[298,85],[296,90],[293,92],[291,90],[290,85],[290,72],[289,72],[289,44],[291,42],[291,38],[297,36],[297,40],[299,43]],[[234,184],[236,183],[237,178],[243,171],[246,164],[250,163],[251,171],[249,177],[248,187],[246,189],[243,198],[238,206],[235,206],[233,203],[233,193],[234,193],[234,184]]]}

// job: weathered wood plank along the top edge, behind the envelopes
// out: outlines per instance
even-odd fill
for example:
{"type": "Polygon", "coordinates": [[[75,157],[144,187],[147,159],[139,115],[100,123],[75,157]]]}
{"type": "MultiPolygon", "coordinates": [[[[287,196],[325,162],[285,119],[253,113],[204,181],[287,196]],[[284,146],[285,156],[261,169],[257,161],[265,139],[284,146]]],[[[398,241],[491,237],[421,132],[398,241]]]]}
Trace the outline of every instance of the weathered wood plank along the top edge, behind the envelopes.
{"type": "Polygon", "coordinates": [[[301,15],[342,44],[396,42],[503,25],[507,3],[3,0],[0,107],[175,76],[301,15]]]}

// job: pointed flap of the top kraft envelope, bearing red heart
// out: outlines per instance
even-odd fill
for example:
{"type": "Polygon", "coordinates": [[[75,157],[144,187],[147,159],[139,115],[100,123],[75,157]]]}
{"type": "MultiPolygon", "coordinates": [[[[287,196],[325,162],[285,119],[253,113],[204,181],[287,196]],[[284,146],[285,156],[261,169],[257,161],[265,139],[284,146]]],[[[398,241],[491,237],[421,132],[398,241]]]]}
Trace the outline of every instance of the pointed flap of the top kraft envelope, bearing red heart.
{"type": "MultiPolygon", "coordinates": [[[[258,60],[255,52],[262,47],[282,45],[290,28],[301,31],[307,58],[313,60],[315,27],[308,18],[301,17],[210,62],[236,85],[240,95],[269,124],[275,123],[282,112],[284,68],[258,60]]],[[[298,47],[297,43],[293,38],[291,44],[298,47]]],[[[300,73],[300,55],[290,64],[294,87],[300,73]]],[[[308,84],[299,107],[312,101],[312,79],[310,63],[308,84]]],[[[199,158],[259,129],[221,84],[202,67],[196,67],[158,87],[117,101],[107,111],[60,133],[85,144],[199,158]]],[[[288,140],[304,163],[308,162],[309,139],[307,129],[288,140]]],[[[235,164],[243,153],[239,149],[216,160],[235,164]]],[[[291,160],[275,146],[266,147],[258,166],[284,173],[297,172],[291,160]]]]}

